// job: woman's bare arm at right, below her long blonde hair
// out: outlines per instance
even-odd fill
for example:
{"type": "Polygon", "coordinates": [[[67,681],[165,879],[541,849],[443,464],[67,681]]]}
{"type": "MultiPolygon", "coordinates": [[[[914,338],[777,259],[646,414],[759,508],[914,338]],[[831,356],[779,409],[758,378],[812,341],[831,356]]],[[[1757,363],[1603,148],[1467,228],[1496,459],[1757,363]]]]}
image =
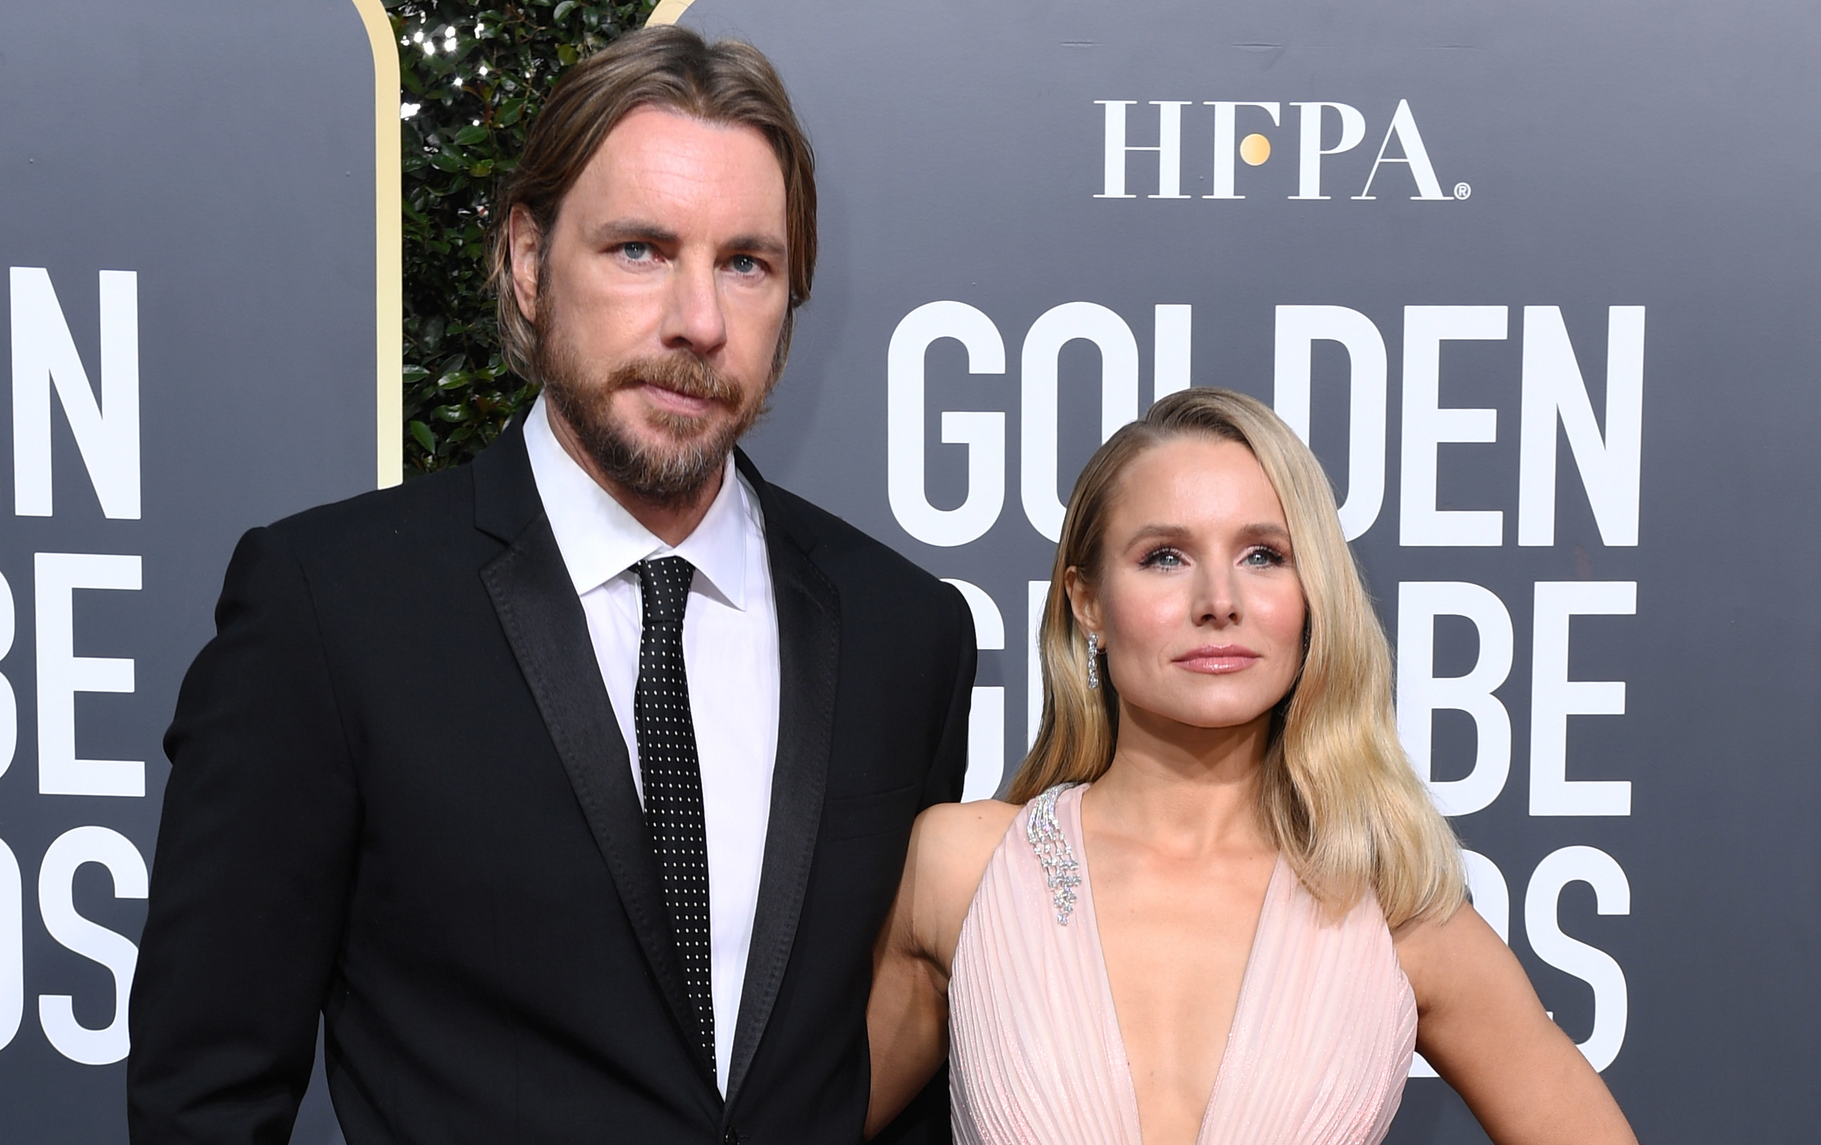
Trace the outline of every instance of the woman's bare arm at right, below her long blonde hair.
{"type": "Polygon", "coordinates": [[[1471,908],[1400,927],[1417,1049],[1499,1145],[1637,1145],[1606,1083],[1471,908]]]}

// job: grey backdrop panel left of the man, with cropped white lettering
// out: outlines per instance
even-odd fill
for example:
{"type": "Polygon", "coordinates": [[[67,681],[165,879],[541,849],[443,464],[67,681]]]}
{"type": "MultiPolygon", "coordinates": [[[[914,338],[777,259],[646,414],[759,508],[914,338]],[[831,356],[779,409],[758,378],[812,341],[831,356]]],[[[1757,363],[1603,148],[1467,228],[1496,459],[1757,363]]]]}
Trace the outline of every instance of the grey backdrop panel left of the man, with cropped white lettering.
{"type": "Polygon", "coordinates": [[[18,2],[0,107],[0,1141],[102,1145],[233,542],[399,477],[397,55],[381,0],[18,2]]]}

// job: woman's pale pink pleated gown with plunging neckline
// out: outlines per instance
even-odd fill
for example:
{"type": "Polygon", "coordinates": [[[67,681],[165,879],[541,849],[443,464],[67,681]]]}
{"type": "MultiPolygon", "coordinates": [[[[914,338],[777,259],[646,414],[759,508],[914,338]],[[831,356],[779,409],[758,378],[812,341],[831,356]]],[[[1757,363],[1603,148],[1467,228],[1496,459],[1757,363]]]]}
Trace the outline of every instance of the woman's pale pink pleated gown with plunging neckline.
{"type": "MultiPolygon", "coordinates": [[[[1100,952],[1082,792],[1051,788],[992,854],[949,979],[958,1145],[1142,1145],[1100,952]]],[[[1198,1145],[1375,1145],[1417,1045],[1377,899],[1324,921],[1282,857],[1198,1145]]]]}

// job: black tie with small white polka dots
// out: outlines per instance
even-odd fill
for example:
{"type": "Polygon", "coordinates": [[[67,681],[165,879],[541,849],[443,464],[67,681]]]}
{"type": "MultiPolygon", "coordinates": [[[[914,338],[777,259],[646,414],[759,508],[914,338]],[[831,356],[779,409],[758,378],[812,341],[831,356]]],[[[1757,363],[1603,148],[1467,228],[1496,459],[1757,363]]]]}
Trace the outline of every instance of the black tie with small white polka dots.
{"type": "Polygon", "coordinates": [[[696,568],[683,557],[639,562],[645,633],[632,703],[645,777],[645,825],[665,885],[665,905],[683,956],[683,985],[696,1007],[701,1049],[714,1063],[714,994],[708,943],[708,832],[701,816],[696,721],[683,672],[683,610],[696,568]]]}

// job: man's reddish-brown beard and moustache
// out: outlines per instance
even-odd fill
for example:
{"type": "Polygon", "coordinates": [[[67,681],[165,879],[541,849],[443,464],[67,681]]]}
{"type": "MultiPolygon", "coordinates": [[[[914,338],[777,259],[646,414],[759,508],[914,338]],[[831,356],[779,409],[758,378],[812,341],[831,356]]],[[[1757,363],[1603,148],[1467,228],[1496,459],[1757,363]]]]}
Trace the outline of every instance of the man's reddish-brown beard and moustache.
{"type": "Polygon", "coordinates": [[[765,399],[778,382],[774,370],[765,390],[748,399],[738,382],[690,351],[630,359],[597,370],[581,362],[561,333],[543,328],[543,322],[537,326],[534,366],[575,442],[601,475],[637,499],[665,508],[694,502],[721,473],[734,442],[759,421],[765,399]],[[648,411],[645,430],[657,441],[646,441],[614,411],[614,395],[639,384],[703,399],[710,408],[699,417],[648,411]]]}

